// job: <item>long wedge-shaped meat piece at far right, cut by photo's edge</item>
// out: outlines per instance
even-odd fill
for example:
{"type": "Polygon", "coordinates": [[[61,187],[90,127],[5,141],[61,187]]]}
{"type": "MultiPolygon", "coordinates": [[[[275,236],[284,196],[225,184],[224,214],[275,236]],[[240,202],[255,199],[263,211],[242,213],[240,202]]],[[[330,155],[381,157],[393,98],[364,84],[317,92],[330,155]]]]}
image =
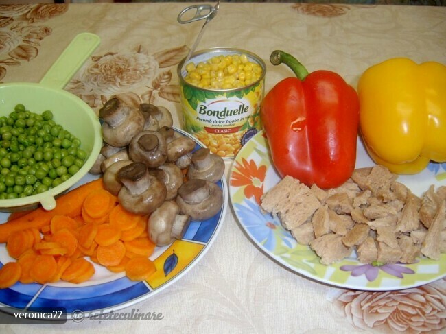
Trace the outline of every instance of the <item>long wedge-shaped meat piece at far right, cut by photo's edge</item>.
{"type": "Polygon", "coordinates": [[[421,245],[421,253],[425,257],[434,260],[440,259],[441,230],[443,230],[445,219],[446,201],[442,201],[421,245]]]}

